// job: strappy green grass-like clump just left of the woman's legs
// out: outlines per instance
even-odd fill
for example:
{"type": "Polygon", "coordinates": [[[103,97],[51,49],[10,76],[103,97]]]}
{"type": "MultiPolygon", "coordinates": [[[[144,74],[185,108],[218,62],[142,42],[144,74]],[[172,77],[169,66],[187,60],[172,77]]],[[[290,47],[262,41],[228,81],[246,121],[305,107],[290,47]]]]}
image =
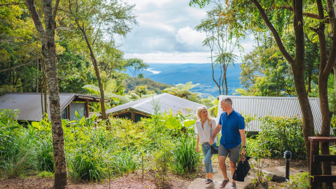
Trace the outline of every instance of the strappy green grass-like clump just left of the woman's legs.
{"type": "Polygon", "coordinates": [[[201,160],[201,153],[195,150],[197,140],[195,137],[183,135],[176,141],[177,144],[173,150],[173,167],[178,174],[189,174],[199,166],[201,160]]]}

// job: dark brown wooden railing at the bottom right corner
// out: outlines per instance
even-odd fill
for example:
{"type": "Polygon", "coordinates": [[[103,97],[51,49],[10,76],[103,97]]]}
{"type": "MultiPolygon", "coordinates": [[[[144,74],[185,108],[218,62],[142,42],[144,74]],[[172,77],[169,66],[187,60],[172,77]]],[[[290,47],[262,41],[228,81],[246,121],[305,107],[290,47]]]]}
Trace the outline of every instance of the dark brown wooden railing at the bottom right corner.
{"type": "Polygon", "coordinates": [[[336,175],[317,175],[319,162],[336,162],[336,155],[320,155],[320,142],[335,142],[336,137],[308,137],[310,140],[310,188],[318,189],[319,182],[336,182],[336,175]]]}

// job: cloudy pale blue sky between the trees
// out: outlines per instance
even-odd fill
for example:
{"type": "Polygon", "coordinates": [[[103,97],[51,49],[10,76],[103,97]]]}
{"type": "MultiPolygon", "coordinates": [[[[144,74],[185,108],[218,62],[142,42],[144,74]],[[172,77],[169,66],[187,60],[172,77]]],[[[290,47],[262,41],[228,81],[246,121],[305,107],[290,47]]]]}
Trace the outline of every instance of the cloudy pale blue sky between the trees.
{"type": "MultiPolygon", "coordinates": [[[[210,51],[202,46],[205,34],[194,28],[200,24],[213,5],[200,9],[189,6],[189,0],[126,0],[136,4],[138,16],[135,26],[122,44],[125,58],[140,58],[146,63],[209,63],[210,51]]],[[[253,48],[253,37],[241,42],[245,53],[253,48]]],[[[240,55],[238,50],[234,52],[240,55]]],[[[237,60],[241,62],[241,60],[237,60]]]]}

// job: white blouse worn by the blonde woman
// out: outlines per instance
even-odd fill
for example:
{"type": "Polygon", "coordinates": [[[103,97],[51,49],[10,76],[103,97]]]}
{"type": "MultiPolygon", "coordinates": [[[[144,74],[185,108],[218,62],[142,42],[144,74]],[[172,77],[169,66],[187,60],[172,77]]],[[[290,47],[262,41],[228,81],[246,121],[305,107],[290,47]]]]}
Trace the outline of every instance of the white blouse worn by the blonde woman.
{"type": "MultiPolygon", "coordinates": [[[[212,119],[211,126],[209,127],[208,120],[206,120],[203,124],[204,129],[202,128],[201,120],[197,120],[195,122],[195,134],[198,134],[200,138],[200,144],[202,145],[204,142],[209,142],[210,140],[210,132],[211,135],[216,128],[216,121],[212,119]]],[[[217,137],[214,142],[217,142],[217,137]]]]}

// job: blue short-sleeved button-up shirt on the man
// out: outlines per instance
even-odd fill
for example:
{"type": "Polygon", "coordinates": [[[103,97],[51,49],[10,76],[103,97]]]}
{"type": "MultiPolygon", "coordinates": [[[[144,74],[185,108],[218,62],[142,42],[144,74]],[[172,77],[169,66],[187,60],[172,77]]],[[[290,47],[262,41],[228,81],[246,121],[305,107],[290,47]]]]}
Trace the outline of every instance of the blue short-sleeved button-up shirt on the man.
{"type": "Polygon", "coordinates": [[[226,149],[236,147],[242,142],[239,129],[245,129],[245,121],[240,113],[233,110],[227,116],[227,113],[223,112],[220,114],[218,124],[222,126],[222,137],[219,142],[226,149]]]}

